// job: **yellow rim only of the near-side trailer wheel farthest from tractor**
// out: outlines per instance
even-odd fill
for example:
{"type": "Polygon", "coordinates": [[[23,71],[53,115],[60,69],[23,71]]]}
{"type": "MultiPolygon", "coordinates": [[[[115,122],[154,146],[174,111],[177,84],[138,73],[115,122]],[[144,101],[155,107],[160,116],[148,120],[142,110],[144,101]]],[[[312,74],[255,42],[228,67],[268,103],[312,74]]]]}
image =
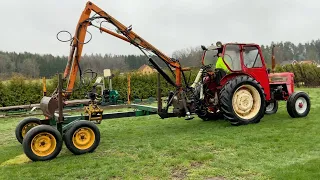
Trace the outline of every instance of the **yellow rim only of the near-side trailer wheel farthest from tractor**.
{"type": "Polygon", "coordinates": [[[56,149],[56,138],[47,132],[37,134],[31,141],[31,150],[37,156],[49,156],[56,149]]]}

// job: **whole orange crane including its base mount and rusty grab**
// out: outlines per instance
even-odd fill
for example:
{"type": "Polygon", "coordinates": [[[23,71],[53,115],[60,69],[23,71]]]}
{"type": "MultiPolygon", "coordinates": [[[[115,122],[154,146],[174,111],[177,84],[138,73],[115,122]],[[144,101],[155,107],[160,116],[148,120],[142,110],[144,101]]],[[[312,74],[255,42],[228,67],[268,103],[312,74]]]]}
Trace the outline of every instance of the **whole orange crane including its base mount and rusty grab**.
{"type": "MultiPolygon", "coordinates": [[[[77,73],[80,70],[80,78],[81,78],[81,69],[79,67],[79,63],[81,60],[81,54],[82,54],[82,49],[83,45],[86,44],[85,37],[87,34],[87,28],[88,26],[93,26],[99,29],[101,32],[108,33],[114,37],[117,37],[121,40],[124,40],[136,47],[138,47],[148,58],[150,63],[154,66],[155,69],[166,79],[166,81],[175,86],[177,89],[176,95],[179,96],[178,99],[180,99],[180,94],[179,92],[183,91],[182,88],[182,77],[184,78],[184,81],[186,82],[186,78],[184,76],[183,71],[188,71],[190,70],[189,68],[182,68],[180,65],[180,62],[176,59],[170,58],[166,56],[164,53],[162,53],[160,50],[155,48],[153,45],[151,45],[149,42],[144,40],[142,37],[137,35],[132,31],[132,26],[125,26],[122,23],[120,23],[118,20],[116,20],[114,17],[100,9],[98,6],[93,4],[92,2],[88,1],[81,16],[79,19],[79,22],[76,27],[75,35],[72,38],[71,42],[71,49],[70,49],[70,54],[68,57],[68,62],[64,71],[63,78],[67,81],[67,88],[63,93],[63,99],[66,100],[70,97],[74,90],[75,86],[75,81],[77,77],[77,73]],[[91,16],[91,13],[94,12],[95,15],[91,16]],[[112,24],[117,28],[117,33],[110,31],[104,27],[98,25],[95,25],[92,23],[93,20],[97,19],[103,19],[103,22],[107,22],[112,24]],[[153,54],[158,56],[161,60],[163,60],[168,67],[172,67],[174,71],[172,73],[175,76],[175,82],[159,67],[159,65],[152,59],[150,58],[145,51],[151,51],[153,54]]],[[[182,95],[182,98],[186,98],[186,95],[182,95]]],[[[58,93],[57,90],[52,94],[52,97],[43,97],[40,103],[40,107],[42,111],[44,112],[45,116],[51,117],[54,113],[54,111],[58,107],[58,93]]],[[[179,101],[182,107],[187,109],[187,105],[185,100],[179,101]]],[[[180,106],[180,105],[179,105],[180,106]]],[[[179,107],[179,109],[181,109],[179,107]]],[[[187,111],[187,115],[190,117],[190,113],[187,111]]]]}

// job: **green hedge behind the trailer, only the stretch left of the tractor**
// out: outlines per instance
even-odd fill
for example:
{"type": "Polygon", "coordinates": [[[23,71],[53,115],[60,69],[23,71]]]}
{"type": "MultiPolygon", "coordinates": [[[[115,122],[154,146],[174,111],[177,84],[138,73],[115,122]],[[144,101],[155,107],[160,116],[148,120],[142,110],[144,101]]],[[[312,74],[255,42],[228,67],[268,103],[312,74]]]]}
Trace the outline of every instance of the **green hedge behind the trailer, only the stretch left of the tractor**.
{"type": "MultiPolygon", "coordinates": [[[[191,73],[190,80],[194,80],[195,73],[191,73]]],[[[150,75],[142,75],[139,73],[131,72],[131,100],[133,99],[147,99],[149,97],[156,97],[157,93],[157,73],[150,75]]],[[[189,73],[186,73],[187,78],[189,73]]],[[[112,79],[112,88],[117,90],[120,95],[120,99],[127,100],[128,91],[128,73],[120,74],[116,73],[112,79]]],[[[171,75],[172,77],[172,75],[171,75]]],[[[77,78],[74,92],[70,99],[83,99],[86,98],[87,92],[91,91],[92,85],[95,79],[92,81],[86,81],[85,84],[79,83],[79,78],[77,78]]],[[[22,104],[34,104],[39,103],[42,98],[42,81],[40,80],[30,80],[23,76],[14,76],[9,81],[0,82],[0,107],[4,106],[14,106],[22,104]]],[[[108,80],[105,79],[106,87],[109,87],[108,80]]],[[[55,90],[58,84],[57,76],[52,77],[46,83],[47,85],[47,95],[49,96],[55,90]]],[[[66,87],[66,83],[64,84],[66,87]]],[[[162,96],[167,96],[170,90],[174,90],[171,85],[169,85],[161,77],[161,89],[162,96]]],[[[98,93],[100,93],[100,88],[97,88],[98,93]]]]}

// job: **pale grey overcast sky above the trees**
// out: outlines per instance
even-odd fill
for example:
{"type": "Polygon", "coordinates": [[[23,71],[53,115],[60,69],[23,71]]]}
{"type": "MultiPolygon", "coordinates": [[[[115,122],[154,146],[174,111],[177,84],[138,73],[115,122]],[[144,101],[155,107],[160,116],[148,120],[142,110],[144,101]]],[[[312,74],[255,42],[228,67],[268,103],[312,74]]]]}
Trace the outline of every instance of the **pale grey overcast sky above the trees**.
{"type": "MultiPolygon", "coordinates": [[[[68,55],[60,30],[74,33],[85,0],[0,0],[0,50],[68,55]]],[[[308,42],[320,36],[316,0],[94,0],[101,9],[165,54],[225,42],[308,42]]],[[[141,54],[138,49],[90,28],[83,53],[141,54]]]]}

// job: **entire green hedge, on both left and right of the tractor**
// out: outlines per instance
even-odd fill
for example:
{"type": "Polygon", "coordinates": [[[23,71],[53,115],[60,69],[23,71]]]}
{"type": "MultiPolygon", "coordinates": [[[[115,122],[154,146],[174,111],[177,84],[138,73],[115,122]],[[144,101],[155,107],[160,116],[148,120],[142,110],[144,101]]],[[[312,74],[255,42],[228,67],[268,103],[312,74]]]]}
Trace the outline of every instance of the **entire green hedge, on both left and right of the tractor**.
{"type": "MultiPolygon", "coordinates": [[[[306,87],[320,86],[320,68],[315,65],[297,64],[277,66],[276,72],[293,72],[295,74],[295,83],[304,84],[306,87]]],[[[186,72],[186,78],[189,79],[189,73],[186,72]]],[[[168,73],[172,77],[171,73],[168,73]]],[[[197,69],[191,71],[190,84],[195,79],[197,69]]],[[[157,73],[151,75],[142,75],[131,72],[131,99],[146,99],[149,97],[156,97],[157,93],[157,73]]],[[[120,99],[127,100],[128,90],[128,73],[115,73],[112,79],[112,88],[117,90],[120,94],[120,99]]],[[[47,82],[47,94],[50,95],[57,87],[57,76],[54,76],[47,82]]],[[[77,78],[75,91],[70,99],[86,98],[87,92],[92,88],[94,80],[86,82],[85,85],[80,86],[79,78],[77,78]]],[[[64,84],[66,87],[66,84],[64,84]]],[[[106,87],[108,82],[106,80],[106,87]]],[[[161,95],[167,96],[168,92],[174,90],[163,77],[161,77],[161,95]]],[[[100,89],[98,89],[99,93],[100,89]]],[[[13,106],[22,104],[39,103],[42,97],[42,83],[40,80],[32,81],[23,76],[14,76],[7,82],[0,82],[0,106],[13,106]]]]}

